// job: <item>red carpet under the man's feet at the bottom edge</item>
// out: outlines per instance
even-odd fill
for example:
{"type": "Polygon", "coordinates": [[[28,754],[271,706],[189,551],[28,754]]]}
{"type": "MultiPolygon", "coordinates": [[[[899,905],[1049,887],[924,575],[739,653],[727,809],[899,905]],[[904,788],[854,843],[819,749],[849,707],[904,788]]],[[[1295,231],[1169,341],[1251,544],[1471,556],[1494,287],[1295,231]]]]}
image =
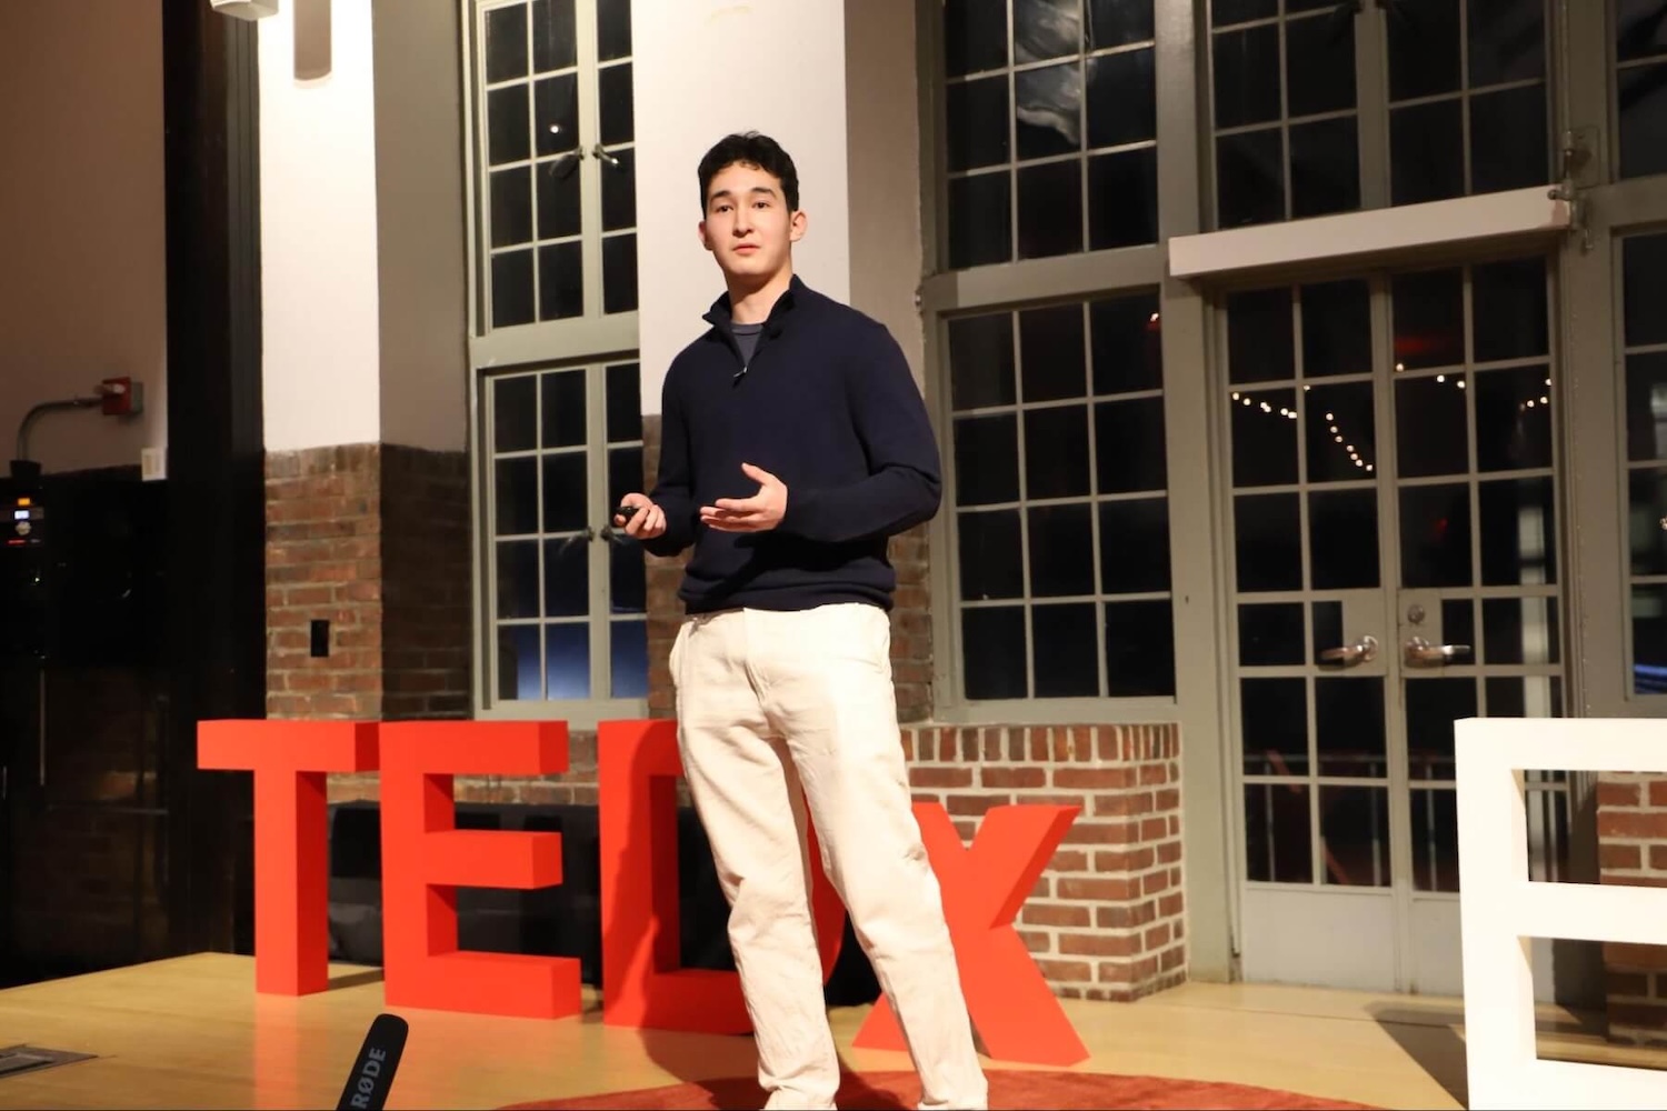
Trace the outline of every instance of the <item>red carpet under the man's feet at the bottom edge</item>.
{"type": "MultiPolygon", "coordinates": [[[[845,1074],[839,1106],[847,1111],[909,1111],[920,1101],[914,1073],[845,1074]]],[[[763,1091],[750,1076],[670,1084],[638,1091],[615,1091],[578,1099],[518,1103],[503,1111],[753,1111],[763,1106],[763,1091]]],[[[990,1108],[1157,1108],[1202,1111],[1355,1111],[1360,1103],[1315,1099],[1289,1091],[1212,1084],[1205,1081],[1160,1079],[1157,1076],[1109,1076],[1102,1073],[1015,1073],[990,1071],[990,1108]]]]}

